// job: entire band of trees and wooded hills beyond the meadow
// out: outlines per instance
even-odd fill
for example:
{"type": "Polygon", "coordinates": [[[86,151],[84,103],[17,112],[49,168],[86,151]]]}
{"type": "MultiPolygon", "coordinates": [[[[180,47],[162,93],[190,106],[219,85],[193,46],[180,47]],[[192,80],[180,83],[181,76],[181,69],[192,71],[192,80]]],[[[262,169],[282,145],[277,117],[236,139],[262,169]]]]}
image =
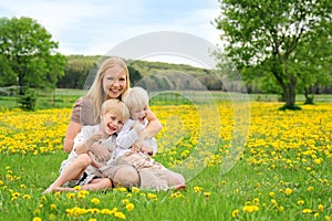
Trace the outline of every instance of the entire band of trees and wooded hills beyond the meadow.
{"type": "MultiPolygon", "coordinates": [[[[317,93],[331,93],[332,22],[328,0],[219,2],[221,13],[214,24],[225,44],[214,52],[217,70],[127,61],[132,85],[274,93],[290,109],[297,108],[299,93],[304,94],[307,103],[313,103],[317,93]],[[245,85],[234,78],[235,69],[245,85]],[[225,78],[232,80],[227,88],[225,78]]],[[[31,88],[89,87],[102,56],[65,56],[58,46],[51,33],[31,18],[0,18],[0,87],[17,85],[18,93],[28,97],[31,88]]]]}

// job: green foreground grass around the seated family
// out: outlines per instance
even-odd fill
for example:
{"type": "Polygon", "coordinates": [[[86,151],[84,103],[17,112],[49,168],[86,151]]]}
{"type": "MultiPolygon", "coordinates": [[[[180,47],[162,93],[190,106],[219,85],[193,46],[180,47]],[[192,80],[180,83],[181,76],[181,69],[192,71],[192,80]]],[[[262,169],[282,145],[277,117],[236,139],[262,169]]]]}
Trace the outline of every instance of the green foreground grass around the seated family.
{"type": "MultiPolygon", "coordinates": [[[[60,196],[48,194],[46,199],[42,199],[41,192],[51,183],[58,176],[59,165],[65,154],[56,152],[56,155],[45,156],[18,156],[18,155],[1,155],[0,180],[4,179],[8,173],[6,169],[10,166],[12,176],[20,177],[17,181],[11,181],[7,186],[8,189],[29,194],[30,200],[10,200],[11,196],[8,190],[0,191],[0,220],[32,220],[33,217],[49,217],[54,214],[55,220],[89,220],[96,218],[97,220],[108,220],[110,215],[105,214],[85,214],[83,218],[70,219],[65,214],[65,210],[73,207],[80,208],[118,208],[123,211],[127,220],[234,220],[231,211],[243,207],[243,202],[259,199],[260,210],[256,213],[248,213],[239,220],[312,220],[312,215],[303,214],[301,207],[297,206],[293,199],[305,199],[305,203],[313,206],[318,202],[326,202],[331,198],[331,190],[322,188],[320,183],[312,183],[314,188],[312,193],[307,193],[304,187],[312,179],[309,173],[303,173],[301,170],[283,171],[277,169],[267,171],[267,168],[251,168],[240,160],[228,173],[220,175],[219,167],[210,167],[203,170],[197,177],[188,181],[186,192],[179,192],[183,197],[170,199],[173,192],[156,193],[157,201],[153,201],[139,193],[121,191],[107,192],[90,192],[85,199],[68,199],[65,193],[60,196]],[[276,177],[278,177],[276,179],[276,177]],[[25,185],[27,189],[22,189],[21,185],[25,185]],[[201,192],[195,192],[195,187],[203,187],[201,192]],[[294,189],[297,197],[292,198],[278,192],[287,187],[294,189]],[[276,189],[274,199],[279,206],[282,206],[288,212],[279,212],[278,209],[271,209],[271,197],[269,191],[276,189]],[[209,197],[205,196],[209,192],[209,197]],[[266,192],[266,194],[262,194],[266,192]],[[92,198],[98,198],[100,204],[93,204],[92,198]],[[123,199],[128,199],[134,203],[135,209],[127,212],[122,203],[123,199]],[[51,210],[51,204],[56,204],[56,210],[51,210]],[[42,204],[42,206],[41,206],[42,204]],[[270,212],[266,212],[262,204],[270,208],[270,212]],[[295,206],[295,207],[294,207],[295,206]],[[39,215],[34,211],[39,209],[39,215]]],[[[330,168],[326,165],[320,173],[331,175],[330,168]]],[[[319,176],[319,175],[318,175],[319,176]]],[[[155,192],[154,192],[155,193],[155,192]]],[[[331,210],[331,209],[330,209],[331,210]]],[[[331,214],[331,211],[330,211],[331,214]]],[[[112,219],[111,219],[112,220],[112,219]]],[[[116,220],[116,219],[115,219],[116,220]]],[[[323,219],[321,219],[323,220],[323,219]]]]}

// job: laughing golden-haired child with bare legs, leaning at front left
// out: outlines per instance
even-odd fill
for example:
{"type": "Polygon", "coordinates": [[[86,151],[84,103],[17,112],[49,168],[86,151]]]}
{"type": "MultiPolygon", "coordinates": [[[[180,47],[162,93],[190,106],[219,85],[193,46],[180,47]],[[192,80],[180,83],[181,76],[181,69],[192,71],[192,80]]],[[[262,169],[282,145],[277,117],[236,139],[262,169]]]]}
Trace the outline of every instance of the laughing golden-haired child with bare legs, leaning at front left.
{"type": "Polygon", "coordinates": [[[82,127],[69,158],[61,164],[60,176],[43,193],[72,191],[75,186],[82,186],[85,190],[108,189],[113,186],[111,179],[100,173],[95,165],[97,161],[89,149],[92,145],[105,146],[112,155],[116,146],[116,133],[128,119],[129,110],[123,102],[108,99],[103,103],[100,117],[98,125],[82,127]],[[86,152],[76,152],[79,146],[85,146],[86,152]]]}

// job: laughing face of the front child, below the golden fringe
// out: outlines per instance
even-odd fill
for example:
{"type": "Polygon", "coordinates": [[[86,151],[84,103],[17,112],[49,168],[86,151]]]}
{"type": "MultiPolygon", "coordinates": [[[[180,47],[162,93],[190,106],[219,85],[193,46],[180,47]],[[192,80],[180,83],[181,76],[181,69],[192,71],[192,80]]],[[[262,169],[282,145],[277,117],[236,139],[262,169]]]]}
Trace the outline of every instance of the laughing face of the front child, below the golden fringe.
{"type": "Polygon", "coordinates": [[[111,136],[117,133],[123,126],[123,117],[115,114],[107,113],[101,118],[101,130],[111,136]]]}

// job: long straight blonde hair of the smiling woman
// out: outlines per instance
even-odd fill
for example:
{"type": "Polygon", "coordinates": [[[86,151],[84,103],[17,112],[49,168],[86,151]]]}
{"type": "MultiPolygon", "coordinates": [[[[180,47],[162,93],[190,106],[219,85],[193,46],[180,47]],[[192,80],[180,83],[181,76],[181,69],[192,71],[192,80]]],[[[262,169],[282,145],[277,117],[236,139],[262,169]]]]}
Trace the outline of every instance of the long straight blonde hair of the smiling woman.
{"type": "MultiPolygon", "coordinates": [[[[123,59],[112,56],[106,59],[100,66],[96,76],[94,77],[93,84],[91,85],[90,90],[87,91],[86,97],[92,99],[92,105],[93,105],[93,113],[94,113],[94,119],[97,120],[101,114],[101,108],[103,102],[106,101],[106,94],[103,88],[103,78],[105,75],[105,71],[113,67],[117,66],[121,67],[125,71],[126,73],[126,90],[129,88],[131,83],[129,83],[129,71],[124,62],[123,59]]],[[[118,97],[121,99],[121,96],[118,97]]]]}

